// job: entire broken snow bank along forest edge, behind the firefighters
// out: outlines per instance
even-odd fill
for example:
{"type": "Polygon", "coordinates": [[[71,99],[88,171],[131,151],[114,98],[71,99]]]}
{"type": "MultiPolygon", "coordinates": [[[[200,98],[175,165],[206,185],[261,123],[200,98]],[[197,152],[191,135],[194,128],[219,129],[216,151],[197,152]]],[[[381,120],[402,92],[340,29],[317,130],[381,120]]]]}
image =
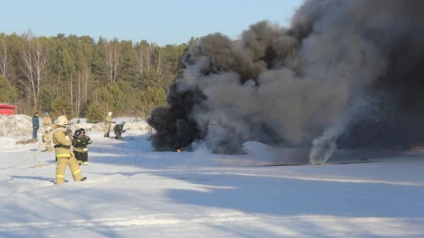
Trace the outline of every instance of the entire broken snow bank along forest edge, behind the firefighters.
{"type": "MultiPolygon", "coordinates": [[[[137,131],[143,134],[149,132],[149,126],[145,119],[117,117],[113,118],[113,121],[117,123],[125,121],[124,130],[137,131]]],[[[69,122],[71,123],[71,130],[84,128],[84,130],[89,132],[104,131],[104,123],[87,123],[84,118],[71,119],[69,122]]],[[[43,126],[42,124],[42,118],[40,118],[40,126],[43,126]]],[[[27,115],[0,115],[0,128],[0,136],[31,136],[32,117],[27,115]]],[[[38,130],[38,134],[40,133],[42,133],[42,130],[38,130]]]]}

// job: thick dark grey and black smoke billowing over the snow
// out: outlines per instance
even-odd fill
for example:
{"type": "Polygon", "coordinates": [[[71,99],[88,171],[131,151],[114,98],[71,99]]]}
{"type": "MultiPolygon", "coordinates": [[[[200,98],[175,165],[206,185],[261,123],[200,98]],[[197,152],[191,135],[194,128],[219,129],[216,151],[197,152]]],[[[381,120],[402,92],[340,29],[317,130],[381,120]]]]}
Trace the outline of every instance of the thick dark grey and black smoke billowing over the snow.
{"type": "Polygon", "coordinates": [[[424,1],[305,1],[289,28],[261,21],[239,40],[200,38],[169,106],[148,120],[156,150],[204,142],[408,147],[424,141],[424,1]]]}

